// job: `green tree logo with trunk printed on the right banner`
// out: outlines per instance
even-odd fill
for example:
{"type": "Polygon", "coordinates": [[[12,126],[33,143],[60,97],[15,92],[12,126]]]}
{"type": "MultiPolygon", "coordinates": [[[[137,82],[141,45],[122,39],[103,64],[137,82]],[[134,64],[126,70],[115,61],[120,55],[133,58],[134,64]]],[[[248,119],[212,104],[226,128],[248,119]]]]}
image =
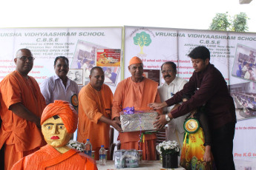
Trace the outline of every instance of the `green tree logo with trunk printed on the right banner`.
{"type": "Polygon", "coordinates": [[[134,37],[134,44],[140,46],[140,54],[144,54],[143,47],[151,44],[150,35],[145,32],[137,33],[134,37]]]}

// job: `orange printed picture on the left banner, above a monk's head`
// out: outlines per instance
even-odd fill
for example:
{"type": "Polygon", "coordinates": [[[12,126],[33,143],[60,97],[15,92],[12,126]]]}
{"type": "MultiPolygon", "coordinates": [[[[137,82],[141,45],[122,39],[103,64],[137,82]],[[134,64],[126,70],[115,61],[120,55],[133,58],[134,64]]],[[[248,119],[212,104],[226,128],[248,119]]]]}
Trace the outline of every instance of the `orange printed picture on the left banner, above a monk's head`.
{"type": "Polygon", "coordinates": [[[96,66],[99,67],[120,67],[120,49],[97,49],[96,66]]]}

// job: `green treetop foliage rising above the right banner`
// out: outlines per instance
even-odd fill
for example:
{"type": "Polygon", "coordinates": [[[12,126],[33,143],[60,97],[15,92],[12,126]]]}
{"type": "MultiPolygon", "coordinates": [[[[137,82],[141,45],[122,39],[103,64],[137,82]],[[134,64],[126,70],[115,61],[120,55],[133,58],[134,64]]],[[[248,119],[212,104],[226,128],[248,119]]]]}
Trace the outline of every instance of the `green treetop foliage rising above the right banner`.
{"type": "Polygon", "coordinates": [[[248,20],[246,13],[239,13],[234,17],[229,16],[228,12],[217,13],[211,21],[209,30],[245,32],[248,30],[248,20]]]}

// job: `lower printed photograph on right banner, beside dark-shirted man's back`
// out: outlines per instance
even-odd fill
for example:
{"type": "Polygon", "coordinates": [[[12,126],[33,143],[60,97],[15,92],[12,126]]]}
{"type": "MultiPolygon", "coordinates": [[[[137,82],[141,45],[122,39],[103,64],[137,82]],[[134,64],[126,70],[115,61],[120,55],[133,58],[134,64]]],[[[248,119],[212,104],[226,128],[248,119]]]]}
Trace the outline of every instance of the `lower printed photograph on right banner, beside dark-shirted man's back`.
{"type": "Polygon", "coordinates": [[[237,120],[256,118],[255,87],[254,82],[229,85],[230,95],[234,99],[237,120]]]}

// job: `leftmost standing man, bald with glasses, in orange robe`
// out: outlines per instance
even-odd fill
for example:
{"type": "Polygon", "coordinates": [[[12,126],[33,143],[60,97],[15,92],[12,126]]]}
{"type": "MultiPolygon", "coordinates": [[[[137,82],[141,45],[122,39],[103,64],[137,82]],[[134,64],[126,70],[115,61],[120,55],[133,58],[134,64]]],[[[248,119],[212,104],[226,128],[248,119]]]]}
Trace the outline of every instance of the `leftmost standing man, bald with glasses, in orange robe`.
{"type": "Polygon", "coordinates": [[[16,70],[0,83],[0,148],[4,147],[6,170],[45,145],[40,129],[45,98],[36,80],[27,75],[34,59],[30,50],[18,50],[14,58],[16,70]]]}

